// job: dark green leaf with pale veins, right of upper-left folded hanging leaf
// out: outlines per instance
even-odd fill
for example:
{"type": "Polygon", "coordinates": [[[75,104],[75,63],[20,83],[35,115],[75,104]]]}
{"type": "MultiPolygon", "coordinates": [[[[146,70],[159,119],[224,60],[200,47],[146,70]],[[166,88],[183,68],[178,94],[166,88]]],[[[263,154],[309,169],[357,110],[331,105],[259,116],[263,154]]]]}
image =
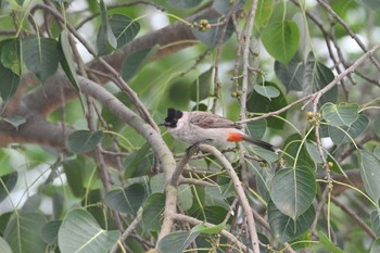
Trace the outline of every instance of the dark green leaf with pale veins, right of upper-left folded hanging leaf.
{"type": "Polygon", "coordinates": [[[130,42],[140,31],[140,24],[129,16],[114,14],[110,17],[110,24],[118,49],[130,42]]]}

